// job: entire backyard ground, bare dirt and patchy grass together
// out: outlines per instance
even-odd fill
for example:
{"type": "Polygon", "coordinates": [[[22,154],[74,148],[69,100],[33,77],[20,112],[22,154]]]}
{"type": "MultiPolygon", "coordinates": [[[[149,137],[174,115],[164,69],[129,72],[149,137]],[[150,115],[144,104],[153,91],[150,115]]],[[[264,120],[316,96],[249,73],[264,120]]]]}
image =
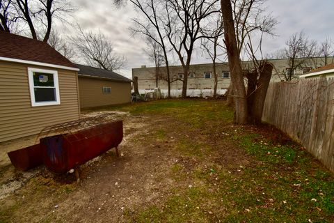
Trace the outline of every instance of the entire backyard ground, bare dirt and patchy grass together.
{"type": "Polygon", "coordinates": [[[115,149],[55,175],[16,171],[0,144],[0,222],[334,222],[334,180],[269,125],[235,126],[220,100],[104,107],[122,119],[115,149]]]}

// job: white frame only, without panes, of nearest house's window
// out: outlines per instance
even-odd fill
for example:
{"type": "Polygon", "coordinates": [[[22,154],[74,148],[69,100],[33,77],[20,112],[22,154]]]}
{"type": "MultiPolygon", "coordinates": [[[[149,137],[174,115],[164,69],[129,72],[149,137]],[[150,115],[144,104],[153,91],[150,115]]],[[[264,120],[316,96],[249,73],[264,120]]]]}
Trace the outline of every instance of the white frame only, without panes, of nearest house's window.
{"type": "MultiPolygon", "coordinates": [[[[30,98],[31,98],[31,106],[38,107],[38,106],[49,106],[49,105],[61,105],[61,95],[59,93],[59,84],[58,84],[58,71],[57,70],[45,70],[39,68],[28,68],[28,79],[29,79],[29,91],[30,91],[30,98]],[[35,91],[36,88],[33,83],[33,72],[43,72],[47,74],[54,75],[54,89],[56,91],[56,100],[49,101],[49,102],[36,102],[35,101],[35,91]]],[[[38,86],[37,88],[51,88],[51,87],[43,87],[38,86]]]]}

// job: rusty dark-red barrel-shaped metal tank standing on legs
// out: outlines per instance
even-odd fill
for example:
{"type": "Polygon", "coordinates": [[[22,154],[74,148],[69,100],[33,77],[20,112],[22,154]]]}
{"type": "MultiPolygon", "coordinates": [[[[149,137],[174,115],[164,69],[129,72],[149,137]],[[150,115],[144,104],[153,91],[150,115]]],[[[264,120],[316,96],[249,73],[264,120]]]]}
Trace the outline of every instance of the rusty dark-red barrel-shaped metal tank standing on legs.
{"type": "Polygon", "coordinates": [[[73,132],[40,139],[42,160],[45,166],[57,174],[84,164],[110,148],[120,144],[123,138],[122,121],[102,123],[73,132]]]}

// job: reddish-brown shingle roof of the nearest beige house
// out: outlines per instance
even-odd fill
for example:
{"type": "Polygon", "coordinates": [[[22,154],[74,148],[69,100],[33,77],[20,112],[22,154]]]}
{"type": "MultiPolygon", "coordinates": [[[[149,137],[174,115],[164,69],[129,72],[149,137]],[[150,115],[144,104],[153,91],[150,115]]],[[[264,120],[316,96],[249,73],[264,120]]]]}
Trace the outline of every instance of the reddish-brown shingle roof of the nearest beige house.
{"type": "Polygon", "coordinates": [[[0,31],[0,56],[77,68],[56,49],[39,40],[0,31]]]}

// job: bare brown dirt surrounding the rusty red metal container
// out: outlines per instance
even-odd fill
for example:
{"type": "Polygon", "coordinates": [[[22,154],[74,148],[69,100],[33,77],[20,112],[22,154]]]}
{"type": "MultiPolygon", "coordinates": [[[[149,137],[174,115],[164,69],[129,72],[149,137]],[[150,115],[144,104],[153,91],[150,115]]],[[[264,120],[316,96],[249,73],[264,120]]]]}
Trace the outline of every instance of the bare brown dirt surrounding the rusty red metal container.
{"type": "MultiPolygon", "coordinates": [[[[186,180],[175,182],[170,176],[170,168],[177,162],[185,167],[197,164],[196,160],[173,152],[171,147],[177,136],[168,136],[154,144],[145,143],[159,125],[169,122],[170,128],[176,126],[173,118],[161,120],[126,112],[111,113],[116,119],[123,119],[120,157],[111,149],[84,164],[80,183],[76,183],[74,174],[55,176],[45,167],[23,173],[14,169],[6,152],[34,144],[35,136],[0,144],[0,206],[17,203],[10,213],[1,214],[10,215],[10,222],[125,222],[125,213],[129,217],[138,207],[163,201],[172,185],[191,185],[186,180]]],[[[98,114],[102,113],[83,116],[98,114]]],[[[235,162],[237,155],[230,158],[228,161],[225,156],[225,161],[235,162]]]]}

